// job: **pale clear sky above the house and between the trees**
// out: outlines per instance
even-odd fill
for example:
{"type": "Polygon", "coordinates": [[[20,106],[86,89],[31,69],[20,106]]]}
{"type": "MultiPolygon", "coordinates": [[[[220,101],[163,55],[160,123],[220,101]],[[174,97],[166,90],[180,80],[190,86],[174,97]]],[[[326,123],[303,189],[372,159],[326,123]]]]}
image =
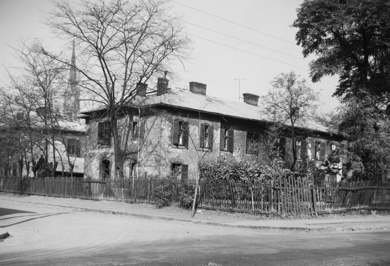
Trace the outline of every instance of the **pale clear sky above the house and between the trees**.
{"type": "MultiPolygon", "coordinates": [[[[303,58],[302,48],[296,45],[297,29],[290,25],[301,3],[301,0],[170,0],[172,13],[182,15],[186,21],[184,31],[193,46],[185,68],[175,68],[179,78],[170,80],[169,87],[188,89],[189,82],[195,81],[207,84],[207,95],[243,101],[239,98],[242,93],[265,95],[277,75],[294,70],[308,80],[314,91],[320,92],[322,111],[335,109],[339,102],[332,94],[337,77],[325,77],[313,84],[308,64],[316,57],[303,58]]],[[[0,0],[2,84],[7,83],[6,69],[17,65],[12,47],[18,47],[21,39],[39,38],[54,52],[69,53],[70,60],[71,50],[66,43],[56,39],[42,23],[48,16],[45,12],[52,9],[49,0],[0,0]]]]}

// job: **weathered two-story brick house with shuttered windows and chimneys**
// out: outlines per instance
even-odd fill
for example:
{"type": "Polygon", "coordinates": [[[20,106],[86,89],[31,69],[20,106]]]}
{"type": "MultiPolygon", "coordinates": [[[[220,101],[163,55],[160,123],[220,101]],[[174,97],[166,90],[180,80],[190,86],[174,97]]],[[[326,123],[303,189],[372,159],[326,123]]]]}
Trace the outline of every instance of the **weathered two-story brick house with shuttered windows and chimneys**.
{"type": "MultiPolygon", "coordinates": [[[[118,119],[126,177],[167,174],[178,167],[183,177],[195,177],[200,158],[204,162],[221,155],[245,159],[252,153],[250,144],[269,123],[260,115],[256,95],[244,93],[244,102],[210,96],[206,84],[198,82],[190,82],[190,90],[168,89],[165,78],[158,80],[157,93],[146,93],[146,87],[140,84],[135,100],[140,109],[130,108],[118,119]]],[[[89,136],[85,176],[110,177],[114,169],[110,120],[104,117],[104,109],[80,113],[89,136]]],[[[297,157],[324,160],[342,137],[315,123],[310,123],[310,129],[312,136],[295,143],[297,157]]],[[[275,149],[286,161],[293,160],[288,137],[278,138],[275,149]]]]}

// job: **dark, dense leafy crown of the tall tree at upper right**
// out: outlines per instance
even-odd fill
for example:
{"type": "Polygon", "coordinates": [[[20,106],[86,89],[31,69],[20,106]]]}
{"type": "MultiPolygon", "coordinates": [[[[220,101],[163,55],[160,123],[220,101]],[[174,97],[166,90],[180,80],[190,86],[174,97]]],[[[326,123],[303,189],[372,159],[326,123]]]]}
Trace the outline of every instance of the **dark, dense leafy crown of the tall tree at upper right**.
{"type": "Polygon", "coordinates": [[[334,95],[390,91],[390,2],[387,0],[305,0],[297,9],[296,41],[310,62],[313,82],[340,75],[334,95]]]}

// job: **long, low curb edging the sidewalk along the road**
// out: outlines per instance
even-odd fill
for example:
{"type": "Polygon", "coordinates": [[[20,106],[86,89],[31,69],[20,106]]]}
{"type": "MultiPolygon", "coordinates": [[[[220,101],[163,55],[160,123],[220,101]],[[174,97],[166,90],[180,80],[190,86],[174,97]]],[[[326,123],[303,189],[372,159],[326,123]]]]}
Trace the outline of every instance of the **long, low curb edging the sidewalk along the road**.
{"type": "MultiPolygon", "coordinates": [[[[118,215],[124,215],[124,216],[133,216],[133,217],[138,217],[138,218],[156,219],[156,220],[158,219],[158,220],[165,220],[165,221],[184,221],[184,222],[190,222],[190,223],[202,224],[202,225],[230,227],[230,228],[241,228],[241,229],[256,229],[256,230],[284,231],[284,232],[286,232],[286,231],[287,232],[318,232],[318,233],[390,230],[390,226],[389,225],[372,226],[372,227],[357,226],[357,227],[326,227],[326,228],[271,227],[271,226],[256,226],[256,225],[233,225],[233,224],[230,224],[230,223],[206,222],[206,221],[200,221],[200,220],[191,220],[191,219],[184,219],[184,218],[177,218],[177,217],[170,217],[170,216],[162,216],[162,215],[154,215],[154,214],[143,214],[143,213],[137,213],[137,212],[112,211],[112,210],[105,210],[105,209],[95,209],[95,208],[78,207],[78,206],[67,206],[67,205],[50,204],[50,203],[42,203],[42,202],[26,202],[26,201],[13,200],[13,199],[2,199],[2,200],[8,200],[8,201],[20,202],[20,203],[28,203],[28,204],[35,204],[35,205],[63,207],[63,208],[70,208],[70,209],[79,210],[79,211],[99,212],[99,213],[103,213],[103,214],[118,214],[118,215]]],[[[6,237],[9,236],[8,232],[5,233],[5,234],[7,234],[6,237]]],[[[0,235],[0,236],[2,236],[2,235],[0,235]]]]}

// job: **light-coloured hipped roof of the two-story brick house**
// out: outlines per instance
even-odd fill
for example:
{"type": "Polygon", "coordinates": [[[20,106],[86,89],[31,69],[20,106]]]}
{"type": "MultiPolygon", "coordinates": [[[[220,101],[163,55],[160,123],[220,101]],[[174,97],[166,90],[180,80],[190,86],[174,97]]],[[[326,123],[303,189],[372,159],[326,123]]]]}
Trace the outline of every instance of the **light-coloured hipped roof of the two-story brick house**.
{"type": "MultiPolygon", "coordinates": [[[[147,97],[137,97],[134,99],[135,105],[151,106],[156,104],[171,105],[172,107],[200,110],[201,112],[209,112],[220,114],[222,116],[232,116],[257,121],[270,120],[266,115],[261,114],[261,106],[246,104],[235,100],[225,99],[211,95],[200,95],[183,89],[170,89],[169,93],[163,95],[149,95],[147,97]]],[[[94,108],[93,110],[81,111],[81,114],[88,114],[91,111],[104,109],[94,108]]],[[[85,117],[85,116],[80,116],[85,117]]],[[[328,128],[318,125],[313,122],[308,122],[306,125],[312,130],[328,132],[328,128]]]]}

